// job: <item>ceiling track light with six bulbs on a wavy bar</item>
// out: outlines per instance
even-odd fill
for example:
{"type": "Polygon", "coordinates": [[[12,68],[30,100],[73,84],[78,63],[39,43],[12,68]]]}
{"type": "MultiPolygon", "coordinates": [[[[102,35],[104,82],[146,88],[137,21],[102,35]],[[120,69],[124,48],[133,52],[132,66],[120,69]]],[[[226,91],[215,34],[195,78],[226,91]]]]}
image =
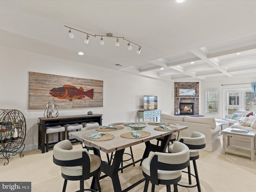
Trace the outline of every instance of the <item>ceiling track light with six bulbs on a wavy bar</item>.
{"type": "Polygon", "coordinates": [[[96,34],[93,35],[93,34],[89,34],[89,33],[87,33],[87,32],[83,32],[83,31],[77,30],[77,29],[75,29],[75,28],[71,28],[71,27],[69,27],[69,26],[64,26],[64,27],[69,28],[68,36],[69,36],[70,38],[74,38],[74,34],[71,32],[71,29],[86,34],[86,38],[84,39],[84,43],[86,43],[86,44],[89,43],[89,36],[94,36],[94,37],[96,37],[96,36],[101,36],[101,38],[100,38],[100,44],[101,44],[101,45],[104,45],[104,44],[105,44],[105,42],[104,42],[104,40],[103,40],[102,37],[110,37],[110,38],[116,38],[116,44],[115,44],[115,46],[117,46],[117,47],[119,47],[119,45],[120,45],[120,44],[119,44],[119,39],[123,39],[123,40],[125,40],[125,41],[128,42],[128,50],[132,50],[131,44],[134,44],[134,45],[139,46],[139,48],[138,48],[138,50],[136,51],[136,53],[140,54],[140,51],[141,51],[141,48],[142,48],[142,46],[140,46],[140,45],[138,45],[138,44],[136,44],[136,43],[134,43],[134,42],[131,42],[131,41],[125,39],[124,37],[113,36],[112,33],[107,33],[106,35],[96,35],[96,34]]]}

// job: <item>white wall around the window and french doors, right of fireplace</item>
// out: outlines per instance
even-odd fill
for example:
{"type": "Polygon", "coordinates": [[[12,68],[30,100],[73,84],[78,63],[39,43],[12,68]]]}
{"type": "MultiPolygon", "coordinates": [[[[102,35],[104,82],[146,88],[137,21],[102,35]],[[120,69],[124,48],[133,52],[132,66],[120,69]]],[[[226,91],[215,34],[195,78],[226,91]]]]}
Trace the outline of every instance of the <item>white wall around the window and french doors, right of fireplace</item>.
{"type": "MultiPolygon", "coordinates": [[[[216,78],[217,79],[217,78],[216,78]]],[[[256,82],[256,77],[244,77],[244,78],[232,78],[228,80],[216,80],[216,81],[203,81],[201,82],[201,92],[200,92],[200,114],[204,116],[213,116],[216,119],[222,119],[224,117],[224,100],[223,100],[223,90],[224,89],[237,89],[237,88],[251,88],[250,83],[256,82]],[[232,85],[234,84],[234,85],[232,85]],[[224,85],[224,86],[222,86],[224,85]],[[219,114],[205,114],[205,89],[219,89],[220,90],[220,112],[219,114]]]]}

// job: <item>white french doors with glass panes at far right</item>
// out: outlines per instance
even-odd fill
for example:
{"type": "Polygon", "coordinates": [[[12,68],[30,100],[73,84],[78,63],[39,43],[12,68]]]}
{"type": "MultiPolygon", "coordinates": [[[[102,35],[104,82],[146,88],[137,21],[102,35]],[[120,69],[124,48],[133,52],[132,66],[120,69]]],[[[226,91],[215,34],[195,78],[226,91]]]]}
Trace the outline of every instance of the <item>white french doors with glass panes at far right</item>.
{"type": "Polygon", "coordinates": [[[255,105],[255,96],[251,88],[224,90],[224,114],[232,115],[236,110],[249,111],[255,105]]]}

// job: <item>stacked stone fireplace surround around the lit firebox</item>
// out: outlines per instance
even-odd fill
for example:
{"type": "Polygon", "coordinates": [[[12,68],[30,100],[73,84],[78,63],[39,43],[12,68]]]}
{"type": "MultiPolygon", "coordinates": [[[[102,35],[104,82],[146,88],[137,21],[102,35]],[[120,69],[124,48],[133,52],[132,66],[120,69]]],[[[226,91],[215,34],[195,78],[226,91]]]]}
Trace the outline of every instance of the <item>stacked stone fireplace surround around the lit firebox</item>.
{"type": "Polygon", "coordinates": [[[199,90],[199,82],[174,82],[174,114],[178,112],[180,103],[194,103],[194,115],[199,115],[199,92],[196,100],[193,97],[177,98],[177,88],[181,86],[196,87],[199,90]]]}

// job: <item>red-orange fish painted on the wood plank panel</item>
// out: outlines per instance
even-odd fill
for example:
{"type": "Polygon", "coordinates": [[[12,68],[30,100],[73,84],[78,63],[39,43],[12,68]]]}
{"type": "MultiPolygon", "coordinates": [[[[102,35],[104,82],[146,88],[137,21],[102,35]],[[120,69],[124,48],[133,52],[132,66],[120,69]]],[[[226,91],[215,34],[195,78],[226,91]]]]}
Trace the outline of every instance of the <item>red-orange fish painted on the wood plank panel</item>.
{"type": "Polygon", "coordinates": [[[82,99],[85,96],[93,99],[94,90],[90,89],[84,91],[82,87],[79,89],[72,85],[63,85],[63,87],[53,88],[50,90],[50,94],[59,99],[68,99],[72,101],[73,99],[82,99]]]}

